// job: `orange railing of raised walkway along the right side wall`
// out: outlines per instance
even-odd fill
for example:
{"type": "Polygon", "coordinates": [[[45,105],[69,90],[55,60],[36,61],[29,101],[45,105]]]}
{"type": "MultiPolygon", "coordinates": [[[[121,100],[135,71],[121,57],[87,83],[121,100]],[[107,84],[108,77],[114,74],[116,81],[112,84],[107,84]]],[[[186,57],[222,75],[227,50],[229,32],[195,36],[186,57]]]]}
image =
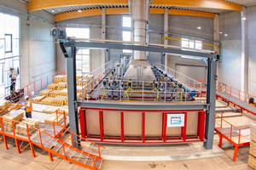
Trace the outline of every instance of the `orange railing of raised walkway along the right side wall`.
{"type": "Polygon", "coordinates": [[[229,94],[230,96],[236,98],[236,99],[240,99],[241,101],[248,103],[249,104],[249,99],[250,97],[253,97],[254,99],[256,99],[255,96],[251,95],[251,94],[247,94],[245,92],[242,92],[241,90],[238,90],[236,88],[231,88],[230,86],[221,83],[219,85],[219,88],[217,88],[218,92],[224,92],[225,94],[229,94]]]}

